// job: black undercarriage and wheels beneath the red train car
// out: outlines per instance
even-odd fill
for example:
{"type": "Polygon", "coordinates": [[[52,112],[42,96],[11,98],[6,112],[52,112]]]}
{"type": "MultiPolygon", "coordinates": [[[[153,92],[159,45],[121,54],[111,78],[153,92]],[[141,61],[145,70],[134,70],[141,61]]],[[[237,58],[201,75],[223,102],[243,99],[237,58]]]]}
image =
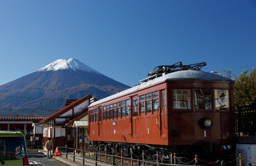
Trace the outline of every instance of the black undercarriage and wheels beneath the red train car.
{"type": "MultiPolygon", "coordinates": [[[[133,158],[144,160],[160,160],[161,163],[173,163],[173,157],[176,156],[177,162],[189,163],[194,160],[195,155],[198,156],[198,163],[201,165],[212,165],[229,163],[234,160],[234,148],[232,145],[218,145],[213,142],[196,143],[194,145],[143,145],[143,144],[129,144],[121,142],[97,142],[92,141],[97,151],[108,154],[120,154],[121,151],[123,156],[130,158],[130,154],[133,154],[133,158]],[[144,155],[142,155],[144,154],[144,155]]],[[[228,164],[227,164],[228,165],[228,164]]],[[[230,163],[234,165],[234,163],[230,163]]]]}

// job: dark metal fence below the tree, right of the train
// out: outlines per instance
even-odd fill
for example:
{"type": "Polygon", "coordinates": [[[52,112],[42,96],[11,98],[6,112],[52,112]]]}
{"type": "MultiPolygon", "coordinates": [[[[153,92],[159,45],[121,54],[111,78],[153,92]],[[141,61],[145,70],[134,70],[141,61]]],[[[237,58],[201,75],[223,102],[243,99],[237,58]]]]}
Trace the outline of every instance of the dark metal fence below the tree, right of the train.
{"type": "Polygon", "coordinates": [[[235,113],[235,131],[238,136],[256,136],[256,107],[238,107],[235,113]]]}

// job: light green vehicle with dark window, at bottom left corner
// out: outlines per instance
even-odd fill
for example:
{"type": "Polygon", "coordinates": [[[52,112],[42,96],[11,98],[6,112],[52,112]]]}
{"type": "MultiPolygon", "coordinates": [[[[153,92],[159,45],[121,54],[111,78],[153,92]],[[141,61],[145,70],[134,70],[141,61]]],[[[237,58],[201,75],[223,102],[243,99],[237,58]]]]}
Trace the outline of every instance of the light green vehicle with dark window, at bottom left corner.
{"type": "Polygon", "coordinates": [[[23,133],[0,131],[0,166],[29,166],[23,133]]]}

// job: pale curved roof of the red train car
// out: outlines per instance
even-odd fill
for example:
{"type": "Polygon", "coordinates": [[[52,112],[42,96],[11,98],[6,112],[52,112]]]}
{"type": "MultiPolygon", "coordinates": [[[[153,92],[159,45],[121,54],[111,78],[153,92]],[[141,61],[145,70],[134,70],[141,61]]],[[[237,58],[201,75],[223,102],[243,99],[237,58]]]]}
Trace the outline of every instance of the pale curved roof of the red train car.
{"type": "Polygon", "coordinates": [[[110,95],[107,98],[103,98],[101,100],[93,102],[92,104],[89,105],[89,107],[94,107],[95,105],[101,104],[102,102],[107,102],[114,98],[119,98],[128,93],[132,93],[133,91],[143,89],[146,86],[151,86],[153,84],[157,84],[158,82],[163,82],[163,81],[167,81],[167,80],[170,80],[170,81],[172,81],[172,80],[210,80],[210,81],[233,82],[233,80],[230,79],[229,77],[227,77],[221,73],[216,73],[216,72],[196,71],[196,70],[176,71],[173,73],[163,74],[160,77],[156,75],[155,78],[153,78],[153,79],[152,79],[152,77],[148,77],[143,80],[142,84],[138,84],[136,86],[133,86],[130,89],[126,89],[119,93],[115,93],[114,95],[110,95]],[[146,81],[147,79],[148,79],[148,81],[146,81]]]}

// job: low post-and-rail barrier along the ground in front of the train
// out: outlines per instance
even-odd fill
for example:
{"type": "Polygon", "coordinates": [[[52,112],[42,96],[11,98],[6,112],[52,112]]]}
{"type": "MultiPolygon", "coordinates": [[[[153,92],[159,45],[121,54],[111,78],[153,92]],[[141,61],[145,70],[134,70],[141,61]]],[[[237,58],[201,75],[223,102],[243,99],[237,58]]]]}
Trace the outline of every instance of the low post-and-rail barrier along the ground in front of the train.
{"type": "MultiPolygon", "coordinates": [[[[160,155],[157,153],[153,156],[146,156],[144,151],[142,151],[142,154],[137,156],[134,154],[133,150],[130,148],[129,153],[123,153],[121,150],[120,152],[114,151],[108,151],[107,148],[105,148],[103,151],[99,150],[96,151],[95,148],[88,147],[88,149],[74,149],[69,147],[60,147],[60,157],[63,155],[67,160],[73,160],[73,162],[78,163],[80,161],[81,164],[87,165],[88,163],[90,165],[98,165],[99,163],[108,163],[110,165],[176,165],[176,166],[192,166],[192,165],[199,165],[198,163],[202,163],[203,165],[236,165],[236,161],[239,161],[239,166],[244,166],[244,162],[253,163],[256,164],[250,160],[246,160],[239,154],[239,157],[235,158],[234,160],[231,160],[227,163],[207,163],[204,160],[200,159],[200,156],[195,155],[195,158],[191,160],[190,162],[184,163],[176,156],[176,154],[171,154],[169,158],[164,158],[160,160],[160,155]],[[153,160],[155,161],[153,161],[153,160]]],[[[201,165],[201,166],[203,166],[201,165]]]]}

